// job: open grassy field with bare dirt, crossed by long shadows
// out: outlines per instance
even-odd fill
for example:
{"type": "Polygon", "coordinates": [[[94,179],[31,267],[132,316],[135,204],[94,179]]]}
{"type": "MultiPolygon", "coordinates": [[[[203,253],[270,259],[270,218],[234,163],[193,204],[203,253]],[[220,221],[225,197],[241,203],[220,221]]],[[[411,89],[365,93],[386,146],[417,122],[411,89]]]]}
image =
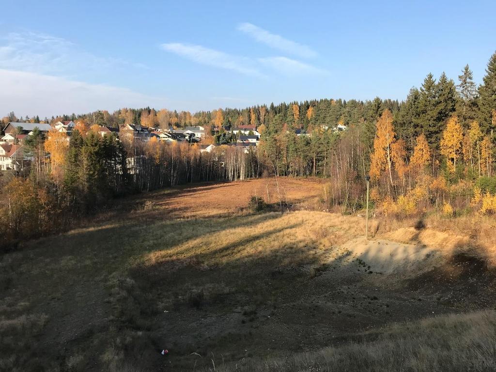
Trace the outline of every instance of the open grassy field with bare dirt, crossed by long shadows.
{"type": "Polygon", "coordinates": [[[0,371],[493,371],[494,251],[380,221],[366,241],[363,218],[305,210],[321,186],[141,194],[4,254],[0,371]]]}

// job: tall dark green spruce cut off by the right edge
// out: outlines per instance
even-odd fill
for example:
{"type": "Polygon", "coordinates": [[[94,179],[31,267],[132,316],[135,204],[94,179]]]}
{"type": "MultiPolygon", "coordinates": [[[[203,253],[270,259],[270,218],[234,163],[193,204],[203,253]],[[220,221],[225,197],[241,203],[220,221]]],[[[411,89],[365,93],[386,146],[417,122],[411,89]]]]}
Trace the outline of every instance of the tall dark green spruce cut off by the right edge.
{"type": "Polygon", "coordinates": [[[479,86],[478,119],[481,130],[488,134],[492,127],[493,110],[496,110],[496,52],[491,56],[486,68],[483,84],[479,86]]]}

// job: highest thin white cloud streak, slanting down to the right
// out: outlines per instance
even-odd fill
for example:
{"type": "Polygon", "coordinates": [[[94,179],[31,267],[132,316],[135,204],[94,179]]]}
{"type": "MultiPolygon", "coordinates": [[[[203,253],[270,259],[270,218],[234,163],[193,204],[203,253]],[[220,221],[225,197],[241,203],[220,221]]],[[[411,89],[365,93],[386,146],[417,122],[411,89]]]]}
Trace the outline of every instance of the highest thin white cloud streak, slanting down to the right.
{"type": "Polygon", "coordinates": [[[286,53],[303,58],[314,58],[318,55],[317,52],[306,45],[285,39],[280,35],[273,34],[251,23],[245,22],[239,24],[238,30],[250,35],[260,43],[266,44],[271,48],[278,49],[286,53]]]}

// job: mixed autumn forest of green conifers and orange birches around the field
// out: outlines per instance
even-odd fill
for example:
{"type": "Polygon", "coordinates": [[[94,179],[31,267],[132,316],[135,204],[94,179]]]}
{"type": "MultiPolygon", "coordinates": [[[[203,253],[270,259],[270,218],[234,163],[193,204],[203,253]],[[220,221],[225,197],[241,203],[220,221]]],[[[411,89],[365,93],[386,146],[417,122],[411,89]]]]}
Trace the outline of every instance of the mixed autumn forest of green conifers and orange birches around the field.
{"type": "Polygon", "coordinates": [[[79,127],[70,138],[35,131],[23,140],[34,159],[29,169],[19,175],[0,171],[0,234],[6,242],[63,229],[129,193],[270,175],[327,179],[322,202],[344,213],[365,206],[368,176],[377,213],[496,213],[496,53],[479,86],[466,65],[456,82],[429,73],[401,102],[319,99],[193,114],[123,108],[43,121],[10,113],[1,127],[57,120],[78,121],[79,127]],[[202,143],[223,145],[201,153],[198,145],[126,143],[95,129],[125,124],[202,125],[209,134],[202,143]],[[229,146],[233,138],[225,131],[248,124],[261,133],[256,150],[229,146]],[[346,129],[332,130],[338,124],[346,129]],[[308,135],[298,136],[296,129],[308,135]]]}

